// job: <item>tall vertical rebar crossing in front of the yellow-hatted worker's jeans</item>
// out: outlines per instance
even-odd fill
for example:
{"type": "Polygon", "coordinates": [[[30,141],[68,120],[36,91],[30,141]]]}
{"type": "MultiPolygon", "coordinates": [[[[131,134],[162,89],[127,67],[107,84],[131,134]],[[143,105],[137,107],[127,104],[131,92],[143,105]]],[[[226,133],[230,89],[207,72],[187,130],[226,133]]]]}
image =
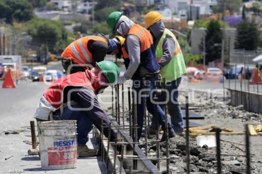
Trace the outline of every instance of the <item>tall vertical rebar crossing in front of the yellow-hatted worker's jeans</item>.
{"type": "MultiPolygon", "coordinates": [[[[166,89],[166,78],[164,77],[163,78],[163,88],[166,89]]],[[[164,93],[164,101],[166,101],[166,95],[167,93],[165,92],[164,93]]],[[[165,108],[165,136],[166,136],[166,157],[169,158],[169,143],[168,143],[168,140],[169,140],[169,135],[168,135],[168,121],[167,121],[167,101],[165,102],[165,105],[164,105],[164,108],[165,108]]],[[[163,135],[164,136],[164,135],[163,135]]],[[[166,173],[169,174],[169,159],[166,160],[166,173]]]]}

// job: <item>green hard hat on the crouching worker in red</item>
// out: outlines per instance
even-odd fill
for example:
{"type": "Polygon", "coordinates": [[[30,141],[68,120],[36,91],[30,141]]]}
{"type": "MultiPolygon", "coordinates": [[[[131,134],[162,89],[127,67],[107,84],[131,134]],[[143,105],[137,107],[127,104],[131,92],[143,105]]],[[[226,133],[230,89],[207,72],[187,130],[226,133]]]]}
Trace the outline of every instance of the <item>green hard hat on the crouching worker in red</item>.
{"type": "Polygon", "coordinates": [[[96,62],[96,65],[101,69],[110,84],[117,82],[117,77],[119,77],[120,70],[114,62],[103,60],[98,63],[96,62]]]}

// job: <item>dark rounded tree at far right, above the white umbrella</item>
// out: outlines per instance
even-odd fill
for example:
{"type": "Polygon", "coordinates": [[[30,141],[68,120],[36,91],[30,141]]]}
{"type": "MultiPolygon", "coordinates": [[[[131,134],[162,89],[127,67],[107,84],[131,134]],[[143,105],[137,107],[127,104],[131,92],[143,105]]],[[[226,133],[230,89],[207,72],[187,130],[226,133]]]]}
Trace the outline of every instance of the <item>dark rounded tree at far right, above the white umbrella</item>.
{"type": "Polygon", "coordinates": [[[252,21],[252,23],[248,23],[244,20],[237,26],[235,48],[256,50],[260,42],[259,36],[257,24],[254,21],[252,21]]]}

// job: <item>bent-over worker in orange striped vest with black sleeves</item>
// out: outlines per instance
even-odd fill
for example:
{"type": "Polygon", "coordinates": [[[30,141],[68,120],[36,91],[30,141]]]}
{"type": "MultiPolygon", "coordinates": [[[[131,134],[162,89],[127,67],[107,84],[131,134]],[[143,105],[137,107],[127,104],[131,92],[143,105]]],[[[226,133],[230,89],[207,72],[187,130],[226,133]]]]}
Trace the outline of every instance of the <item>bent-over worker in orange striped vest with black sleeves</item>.
{"type": "Polygon", "coordinates": [[[61,54],[66,74],[91,69],[96,62],[104,60],[108,50],[114,44],[103,34],[82,37],[69,44],[61,54]],[[70,68],[68,70],[68,68],[70,68]]]}

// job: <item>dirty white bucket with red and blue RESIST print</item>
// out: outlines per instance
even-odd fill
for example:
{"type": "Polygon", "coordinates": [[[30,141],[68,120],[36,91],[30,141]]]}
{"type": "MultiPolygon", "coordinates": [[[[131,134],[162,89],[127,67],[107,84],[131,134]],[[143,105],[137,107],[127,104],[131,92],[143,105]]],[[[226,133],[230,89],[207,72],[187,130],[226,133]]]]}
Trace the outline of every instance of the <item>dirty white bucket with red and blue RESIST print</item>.
{"type": "Polygon", "coordinates": [[[45,170],[76,167],[76,121],[39,122],[41,167],[45,170]]]}

